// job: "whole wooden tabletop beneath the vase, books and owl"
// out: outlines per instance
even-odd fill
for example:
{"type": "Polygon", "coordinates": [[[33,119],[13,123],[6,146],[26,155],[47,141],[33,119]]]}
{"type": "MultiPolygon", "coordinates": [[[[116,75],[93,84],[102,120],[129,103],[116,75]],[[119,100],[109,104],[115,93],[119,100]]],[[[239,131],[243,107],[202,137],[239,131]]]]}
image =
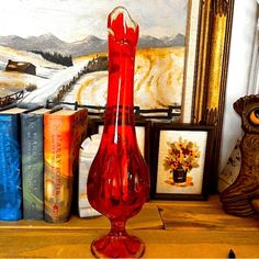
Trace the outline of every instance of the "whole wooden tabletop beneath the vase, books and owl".
{"type": "MultiPolygon", "coordinates": [[[[110,228],[103,216],[50,224],[0,222],[0,257],[92,258],[90,244],[110,228]]],[[[144,258],[259,258],[259,217],[225,214],[209,201],[151,201],[127,224],[146,244],[144,258]]]]}

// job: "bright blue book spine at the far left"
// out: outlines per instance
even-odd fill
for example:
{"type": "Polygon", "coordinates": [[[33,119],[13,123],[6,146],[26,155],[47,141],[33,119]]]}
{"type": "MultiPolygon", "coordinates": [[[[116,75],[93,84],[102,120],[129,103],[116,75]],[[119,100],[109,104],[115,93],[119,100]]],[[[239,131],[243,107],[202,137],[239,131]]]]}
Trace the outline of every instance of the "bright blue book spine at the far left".
{"type": "Polygon", "coordinates": [[[20,115],[0,116],[0,219],[22,217],[20,115]]]}

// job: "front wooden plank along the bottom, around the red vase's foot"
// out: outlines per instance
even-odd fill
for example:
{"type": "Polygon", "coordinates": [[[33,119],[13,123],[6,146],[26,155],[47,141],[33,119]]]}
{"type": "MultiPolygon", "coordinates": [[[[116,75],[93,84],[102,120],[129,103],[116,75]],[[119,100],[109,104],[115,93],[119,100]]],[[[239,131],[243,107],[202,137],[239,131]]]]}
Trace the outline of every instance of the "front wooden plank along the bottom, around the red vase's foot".
{"type": "MultiPolygon", "coordinates": [[[[259,233],[132,230],[146,244],[144,258],[227,258],[233,249],[238,258],[258,258],[259,233]]],[[[90,244],[103,230],[1,232],[0,257],[92,258],[90,244]],[[11,245],[10,245],[11,244],[11,245]]]]}

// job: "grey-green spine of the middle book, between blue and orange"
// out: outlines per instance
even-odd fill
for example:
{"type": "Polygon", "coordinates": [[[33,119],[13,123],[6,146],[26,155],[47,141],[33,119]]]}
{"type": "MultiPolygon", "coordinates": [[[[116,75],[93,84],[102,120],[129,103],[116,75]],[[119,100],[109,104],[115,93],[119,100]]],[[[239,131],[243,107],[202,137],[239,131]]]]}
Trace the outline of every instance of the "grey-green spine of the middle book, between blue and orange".
{"type": "Polygon", "coordinates": [[[43,219],[43,115],[21,114],[24,219],[43,219]]]}

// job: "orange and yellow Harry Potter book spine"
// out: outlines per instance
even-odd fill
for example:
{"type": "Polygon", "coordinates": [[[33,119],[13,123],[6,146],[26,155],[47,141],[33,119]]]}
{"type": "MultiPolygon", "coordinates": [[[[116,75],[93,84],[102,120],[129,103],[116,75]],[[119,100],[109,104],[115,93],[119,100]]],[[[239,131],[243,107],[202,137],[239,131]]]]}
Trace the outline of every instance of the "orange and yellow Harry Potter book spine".
{"type": "Polygon", "coordinates": [[[68,221],[72,194],[71,117],[44,115],[45,221],[68,221]]]}

